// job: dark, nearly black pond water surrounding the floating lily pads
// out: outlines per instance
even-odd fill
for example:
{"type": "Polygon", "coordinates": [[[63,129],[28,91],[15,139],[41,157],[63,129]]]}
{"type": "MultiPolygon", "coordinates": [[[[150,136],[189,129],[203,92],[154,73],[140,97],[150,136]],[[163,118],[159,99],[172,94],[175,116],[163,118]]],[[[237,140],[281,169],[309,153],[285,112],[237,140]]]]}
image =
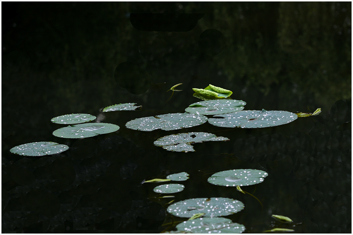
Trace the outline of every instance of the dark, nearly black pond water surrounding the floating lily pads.
{"type": "Polygon", "coordinates": [[[244,203],[226,216],[244,233],[351,233],[351,2],[2,2],[2,12],[2,233],[172,231],[186,220],[166,212],[172,200],[211,197],[244,203]],[[179,83],[183,91],[169,99],[179,83]],[[192,88],[209,84],[233,91],[245,110],[322,113],[256,129],[125,127],[183,113],[201,101],[192,88]],[[119,103],[142,110],[100,112],[119,103]],[[53,136],[64,125],[50,119],[72,113],[120,129],[53,136]],[[186,153],[153,144],[186,132],[230,140],[186,153]],[[43,157],[9,151],[36,141],[70,149],[43,157]],[[242,188],[262,205],[207,182],[231,169],[268,172],[242,188]],[[183,171],[190,179],[174,198],[153,192],[163,183],[141,184],[183,171]]]}

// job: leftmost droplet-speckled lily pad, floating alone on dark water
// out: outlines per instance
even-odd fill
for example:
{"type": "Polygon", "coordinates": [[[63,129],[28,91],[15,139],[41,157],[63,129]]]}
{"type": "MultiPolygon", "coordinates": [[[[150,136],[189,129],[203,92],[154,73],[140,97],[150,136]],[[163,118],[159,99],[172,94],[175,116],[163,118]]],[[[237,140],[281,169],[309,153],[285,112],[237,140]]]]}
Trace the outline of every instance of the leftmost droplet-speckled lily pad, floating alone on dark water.
{"type": "Polygon", "coordinates": [[[10,152],[21,156],[43,156],[64,152],[66,150],[68,150],[68,146],[65,144],[43,141],[18,145],[10,149],[10,152]]]}

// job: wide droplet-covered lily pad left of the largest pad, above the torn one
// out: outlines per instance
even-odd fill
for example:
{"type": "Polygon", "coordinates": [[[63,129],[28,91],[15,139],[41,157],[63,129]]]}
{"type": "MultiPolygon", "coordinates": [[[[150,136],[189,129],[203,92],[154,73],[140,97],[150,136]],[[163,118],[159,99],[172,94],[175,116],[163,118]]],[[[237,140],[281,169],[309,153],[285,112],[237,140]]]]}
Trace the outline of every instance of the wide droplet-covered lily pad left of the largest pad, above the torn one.
{"type": "Polygon", "coordinates": [[[189,113],[170,113],[158,116],[137,118],[126,123],[126,127],[139,131],[153,131],[162,129],[164,131],[172,131],[181,128],[198,126],[207,121],[207,117],[203,115],[189,113]]]}

